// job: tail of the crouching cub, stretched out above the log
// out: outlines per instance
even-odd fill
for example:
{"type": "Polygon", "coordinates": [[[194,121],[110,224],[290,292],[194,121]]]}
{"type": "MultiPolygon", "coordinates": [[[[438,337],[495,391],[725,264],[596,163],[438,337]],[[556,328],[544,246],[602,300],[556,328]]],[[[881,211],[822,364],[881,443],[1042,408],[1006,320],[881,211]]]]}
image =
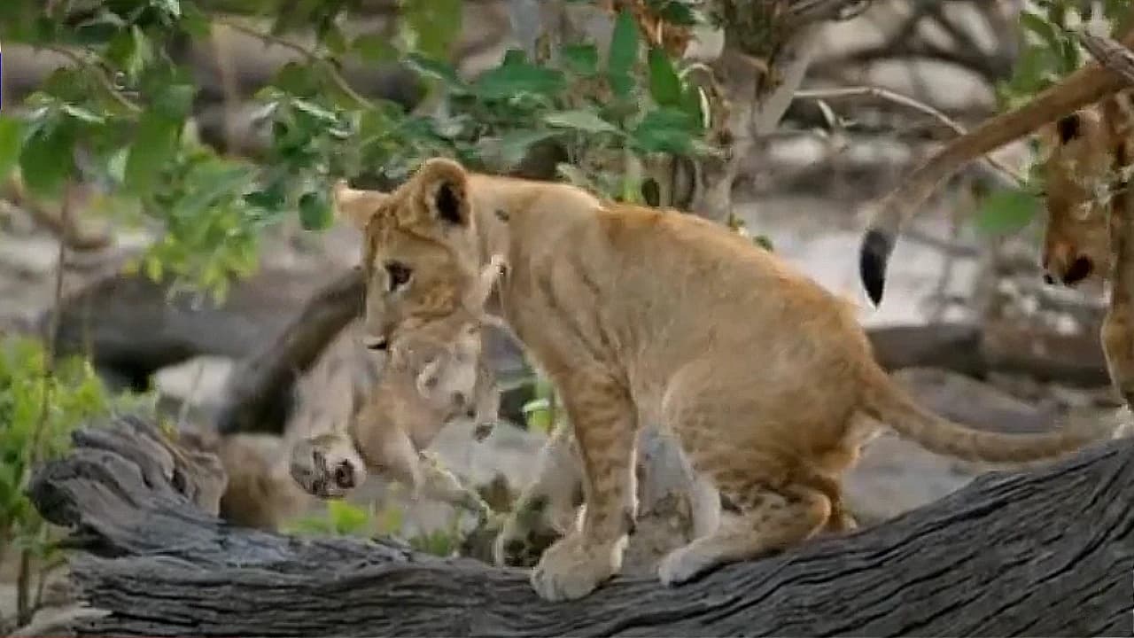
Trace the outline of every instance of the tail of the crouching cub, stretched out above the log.
{"type": "MultiPolygon", "coordinates": [[[[1019,463],[1060,456],[1109,437],[1109,433],[1059,430],[1013,435],[956,423],[919,405],[882,369],[866,384],[862,410],[925,450],[964,461],[1019,463]]],[[[1084,428],[1085,430],[1085,428],[1084,428]]]]}

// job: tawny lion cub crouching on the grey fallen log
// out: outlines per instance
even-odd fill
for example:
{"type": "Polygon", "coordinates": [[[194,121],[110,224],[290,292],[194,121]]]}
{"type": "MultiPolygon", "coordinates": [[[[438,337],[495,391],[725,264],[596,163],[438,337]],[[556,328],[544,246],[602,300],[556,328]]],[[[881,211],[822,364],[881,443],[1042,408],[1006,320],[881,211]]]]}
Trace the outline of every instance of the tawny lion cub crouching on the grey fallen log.
{"type": "Polygon", "coordinates": [[[561,393],[586,477],[581,524],[532,571],[547,599],[579,598],[619,571],[644,422],[669,428],[729,504],[716,531],[662,560],[666,584],[816,534],[831,485],[883,423],[933,452],[990,462],[1093,439],[979,431],[925,411],[874,361],[852,304],[697,217],[447,159],[380,201],[340,186],[347,196],[369,201],[339,205],[365,234],[367,347],[448,320],[489,257],[505,255],[499,311],[561,393]]]}

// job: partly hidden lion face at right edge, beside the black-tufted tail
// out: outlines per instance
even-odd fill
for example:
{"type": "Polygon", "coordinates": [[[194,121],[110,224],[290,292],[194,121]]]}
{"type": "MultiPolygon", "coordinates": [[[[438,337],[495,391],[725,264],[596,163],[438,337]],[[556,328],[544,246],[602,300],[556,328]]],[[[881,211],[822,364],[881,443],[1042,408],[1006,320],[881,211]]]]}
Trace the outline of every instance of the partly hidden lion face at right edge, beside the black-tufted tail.
{"type": "Polygon", "coordinates": [[[1083,109],[1040,129],[1048,223],[1042,266],[1048,283],[1073,286],[1110,271],[1108,207],[1098,193],[1111,170],[1108,129],[1083,109]]]}

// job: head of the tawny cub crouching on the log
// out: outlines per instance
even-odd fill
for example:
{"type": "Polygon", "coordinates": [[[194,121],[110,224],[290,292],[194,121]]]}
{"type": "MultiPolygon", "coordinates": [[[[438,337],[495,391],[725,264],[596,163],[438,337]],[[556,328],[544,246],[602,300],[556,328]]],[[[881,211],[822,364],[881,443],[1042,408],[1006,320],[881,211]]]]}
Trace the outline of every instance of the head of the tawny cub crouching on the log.
{"type": "Polygon", "coordinates": [[[335,204],[363,232],[367,349],[384,351],[423,333],[452,343],[475,322],[488,291],[479,285],[468,175],[459,163],[428,160],[392,193],[340,182],[335,204]]]}

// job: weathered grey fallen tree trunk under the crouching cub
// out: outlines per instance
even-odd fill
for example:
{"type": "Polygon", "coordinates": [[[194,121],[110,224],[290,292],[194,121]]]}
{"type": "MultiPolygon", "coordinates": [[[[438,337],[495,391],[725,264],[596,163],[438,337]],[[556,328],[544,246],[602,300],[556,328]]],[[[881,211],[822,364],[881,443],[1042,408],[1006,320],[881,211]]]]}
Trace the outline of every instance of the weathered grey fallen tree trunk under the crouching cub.
{"type": "Polygon", "coordinates": [[[29,493],[74,530],[71,577],[105,612],[68,628],[84,636],[1118,636],[1134,623],[1132,452],[984,475],[680,588],[619,577],[560,604],[518,570],[229,526],[205,511],[215,469],[136,419],[78,433],[29,493]]]}

